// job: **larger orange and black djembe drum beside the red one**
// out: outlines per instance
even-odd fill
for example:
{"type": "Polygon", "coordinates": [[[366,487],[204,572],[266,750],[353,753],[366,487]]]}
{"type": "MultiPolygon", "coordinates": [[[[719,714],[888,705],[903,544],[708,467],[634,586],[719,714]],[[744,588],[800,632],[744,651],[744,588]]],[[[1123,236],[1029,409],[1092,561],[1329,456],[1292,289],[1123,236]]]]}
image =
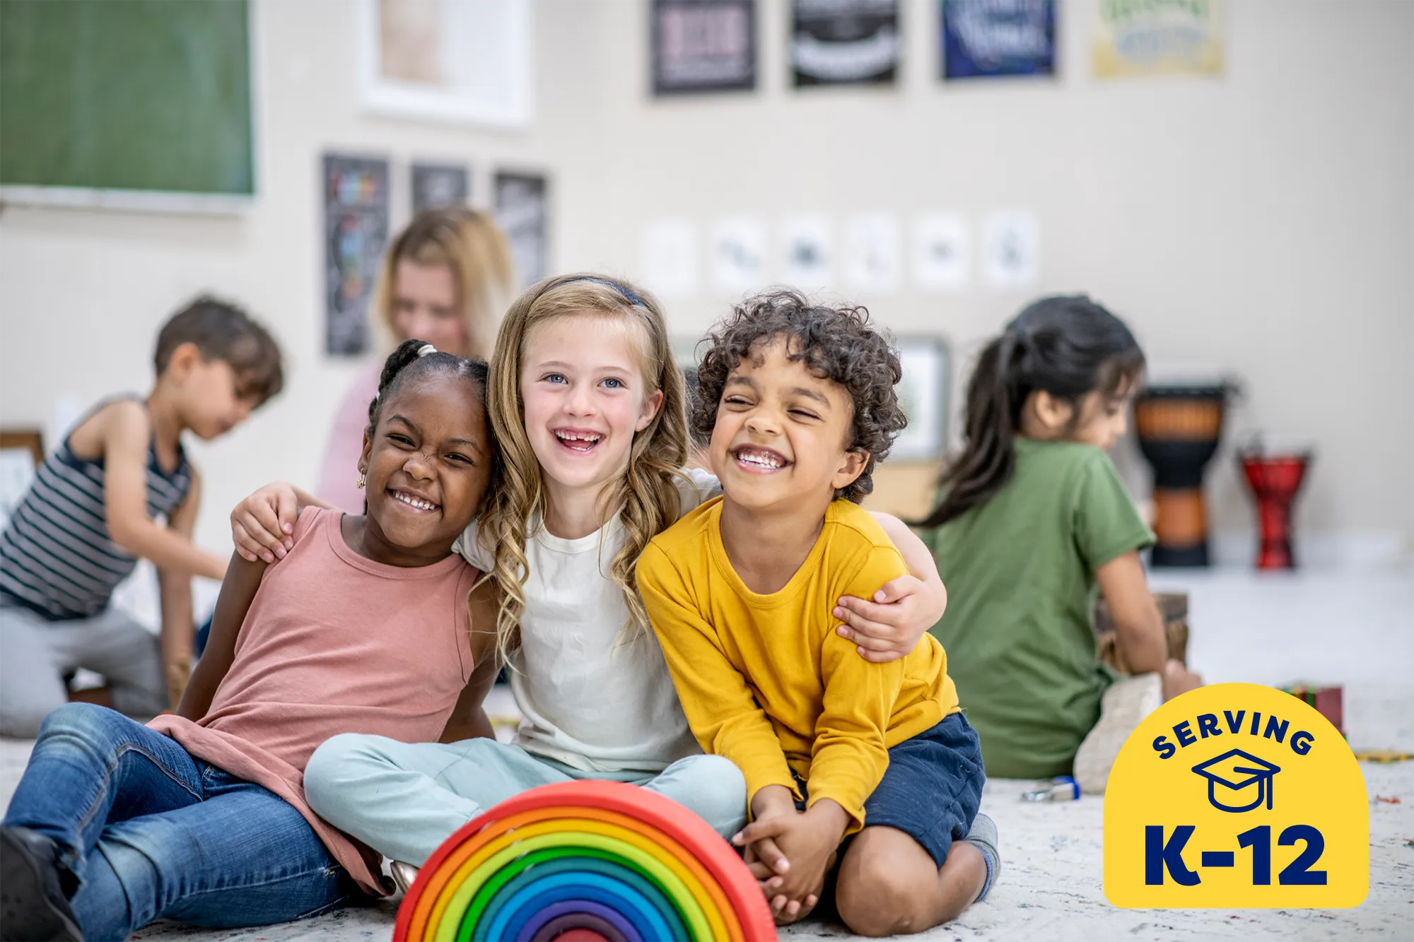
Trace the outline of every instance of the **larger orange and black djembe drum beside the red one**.
{"type": "Polygon", "coordinates": [[[1150,386],[1134,400],[1140,453],[1154,468],[1154,566],[1208,566],[1203,468],[1223,430],[1225,383],[1150,386]]]}

